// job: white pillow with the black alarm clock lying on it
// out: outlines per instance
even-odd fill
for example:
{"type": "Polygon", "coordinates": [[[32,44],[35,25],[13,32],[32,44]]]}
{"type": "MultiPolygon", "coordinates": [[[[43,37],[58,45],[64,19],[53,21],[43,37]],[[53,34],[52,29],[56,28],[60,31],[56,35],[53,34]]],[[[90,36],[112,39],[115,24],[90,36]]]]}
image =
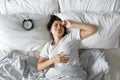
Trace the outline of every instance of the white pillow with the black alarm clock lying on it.
{"type": "MultiPolygon", "coordinates": [[[[27,14],[28,16],[28,14],[27,14]]],[[[22,27],[25,15],[0,15],[0,49],[32,51],[42,49],[50,40],[47,23],[50,16],[31,14],[34,28],[26,31],[22,27]]]]}

